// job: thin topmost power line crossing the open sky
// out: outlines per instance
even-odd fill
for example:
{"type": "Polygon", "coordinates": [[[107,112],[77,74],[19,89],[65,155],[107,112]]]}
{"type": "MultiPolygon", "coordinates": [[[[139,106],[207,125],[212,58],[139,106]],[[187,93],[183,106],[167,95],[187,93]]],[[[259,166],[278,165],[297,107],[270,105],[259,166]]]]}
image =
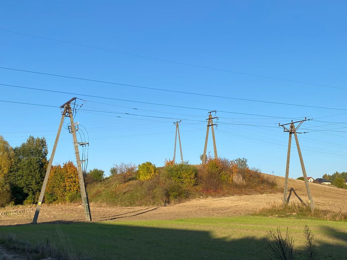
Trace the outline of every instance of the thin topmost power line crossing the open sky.
{"type": "Polygon", "coordinates": [[[252,73],[232,71],[232,70],[227,70],[227,69],[218,69],[218,68],[201,66],[201,65],[191,64],[191,63],[185,63],[185,62],[172,61],[172,60],[167,60],[167,59],[154,58],[154,57],[149,57],[149,56],[145,56],[145,55],[138,55],[138,54],[129,53],[129,52],[122,52],[122,51],[116,51],[116,50],[111,50],[111,49],[105,49],[105,48],[91,46],[91,45],[86,45],[86,44],[81,44],[81,43],[62,41],[62,40],[57,40],[57,39],[53,39],[53,38],[32,35],[32,34],[8,31],[8,30],[4,30],[4,29],[0,29],[0,31],[20,34],[20,35],[26,35],[26,36],[41,38],[41,39],[50,40],[50,41],[67,43],[67,44],[74,44],[74,45],[78,45],[78,46],[83,46],[83,47],[88,47],[88,48],[93,48],[93,49],[98,49],[98,50],[103,50],[103,51],[111,51],[111,52],[116,52],[116,53],[121,53],[121,54],[126,54],[126,55],[132,55],[132,56],[135,56],[135,57],[141,57],[141,58],[146,58],[146,59],[159,60],[159,61],[164,61],[164,62],[170,62],[170,63],[176,63],[176,64],[181,64],[181,65],[186,65],[186,66],[192,66],[192,67],[197,67],[197,68],[211,69],[211,70],[217,70],[217,71],[224,71],[224,72],[236,73],[236,74],[240,74],[240,75],[260,77],[260,78],[267,78],[267,79],[274,79],[274,80],[281,80],[281,81],[288,81],[288,82],[294,82],[294,83],[300,83],[300,84],[306,84],[306,85],[313,85],[313,86],[320,86],[320,87],[328,87],[328,88],[336,88],[336,89],[347,89],[347,88],[341,88],[341,87],[335,87],[335,86],[329,86],[329,85],[309,83],[309,82],[305,82],[305,81],[298,81],[298,80],[290,80],[290,79],[269,77],[269,76],[257,75],[257,74],[252,74],[252,73]]]}

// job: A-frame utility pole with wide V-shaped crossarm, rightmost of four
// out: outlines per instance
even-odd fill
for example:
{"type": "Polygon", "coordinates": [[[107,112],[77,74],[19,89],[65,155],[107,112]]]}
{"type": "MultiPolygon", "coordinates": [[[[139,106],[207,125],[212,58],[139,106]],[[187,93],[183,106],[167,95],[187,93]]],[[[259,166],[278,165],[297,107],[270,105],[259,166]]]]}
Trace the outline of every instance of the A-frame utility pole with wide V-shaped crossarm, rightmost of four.
{"type": "Polygon", "coordinates": [[[289,179],[288,176],[289,176],[291,135],[294,133],[296,147],[298,149],[298,154],[299,154],[299,158],[300,158],[301,168],[302,168],[303,175],[304,175],[304,181],[305,181],[305,185],[306,185],[308,203],[310,203],[310,208],[312,210],[314,208],[314,203],[313,203],[313,199],[312,199],[312,196],[311,196],[310,186],[308,186],[308,180],[307,180],[304,160],[303,160],[303,156],[301,154],[301,150],[300,150],[300,146],[299,146],[299,140],[298,140],[298,136],[297,136],[297,133],[299,133],[299,132],[296,131],[302,125],[302,123],[305,122],[306,120],[307,119],[305,118],[305,120],[296,121],[296,122],[293,122],[293,120],[292,120],[291,123],[288,123],[288,124],[280,124],[280,123],[278,123],[278,126],[283,127],[283,131],[284,132],[288,132],[289,133],[288,152],[287,152],[287,165],[286,165],[286,177],[285,177],[284,192],[283,192],[283,205],[286,205],[288,203],[287,193],[288,193],[288,179],[289,179]],[[299,124],[295,127],[295,125],[294,125],[295,123],[299,123],[299,124]],[[289,125],[289,128],[287,128],[286,125],[289,125]]]}

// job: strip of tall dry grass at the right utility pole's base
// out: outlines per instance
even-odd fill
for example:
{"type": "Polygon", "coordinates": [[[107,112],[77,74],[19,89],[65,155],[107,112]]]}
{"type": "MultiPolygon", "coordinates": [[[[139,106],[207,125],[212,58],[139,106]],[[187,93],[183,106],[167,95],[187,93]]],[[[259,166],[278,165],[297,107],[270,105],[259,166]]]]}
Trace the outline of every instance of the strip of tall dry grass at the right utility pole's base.
{"type": "Polygon", "coordinates": [[[341,211],[332,211],[329,209],[320,209],[315,207],[310,210],[310,206],[304,203],[290,203],[285,206],[273,202],[268,207],[262,208],[254,215],[272,216],[280,218],[307,218],[317,220],[347,221],[347,214],[341,211]]]}

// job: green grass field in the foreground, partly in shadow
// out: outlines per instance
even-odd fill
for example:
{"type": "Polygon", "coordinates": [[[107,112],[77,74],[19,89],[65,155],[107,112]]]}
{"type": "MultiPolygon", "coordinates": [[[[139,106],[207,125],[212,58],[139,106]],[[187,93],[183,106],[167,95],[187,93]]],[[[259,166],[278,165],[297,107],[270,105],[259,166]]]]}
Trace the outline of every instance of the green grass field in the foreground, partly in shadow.
{"type": "Polygon", "coordinates": [[[320,259],[346,259],[346,222],[312,219],[240,216],[29,224],[0,226],[0,236],[12,233],[32,245],[49,239],[93,259],[269,259],[264,239],[279,226],[283,233],[289,227],[296,259],[306,259],[305,225],[315,236],[320,259]],[[64,234],[64,241],[58,232],[64,234]]]}

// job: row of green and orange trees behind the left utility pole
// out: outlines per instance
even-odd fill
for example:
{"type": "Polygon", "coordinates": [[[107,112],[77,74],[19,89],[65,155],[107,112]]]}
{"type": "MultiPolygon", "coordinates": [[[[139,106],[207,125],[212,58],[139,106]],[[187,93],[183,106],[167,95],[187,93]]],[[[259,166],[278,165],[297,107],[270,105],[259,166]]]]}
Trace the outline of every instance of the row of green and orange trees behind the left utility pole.
{"type": "MultiPolygon", "coordinates": [[[[11,147],[0,135],[0,207],[32,204],[39,199],[48,167],[46,139],[28,139],[11,147]]],[[[87,183],[102,180],[104,172],[93,169],[85,174],[87,183]]],[[[73,201],[80,196],[77,167],[68,161],[53,165],[44,199],[46,202],[73,201]]]]}

